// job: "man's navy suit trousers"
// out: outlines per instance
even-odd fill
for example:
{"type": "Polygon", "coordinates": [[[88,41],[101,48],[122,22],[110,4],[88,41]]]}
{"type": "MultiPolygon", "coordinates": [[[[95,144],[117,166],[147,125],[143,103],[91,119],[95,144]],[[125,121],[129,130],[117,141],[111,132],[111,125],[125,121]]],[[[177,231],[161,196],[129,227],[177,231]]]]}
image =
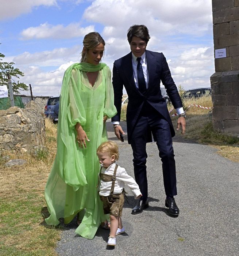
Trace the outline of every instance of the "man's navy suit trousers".
{"type": "Polygon", "coordinates": [[[135,181],[139,185],[144,202],[148,197],[146,142],[149,127],[152,131],[154,141],[157,143],[159,157],[162,161],[163,184],[166,196],[177,195],[176,167],[170,126],[163,116],[146,102],[144,103],[131,137],[135,181]]]}

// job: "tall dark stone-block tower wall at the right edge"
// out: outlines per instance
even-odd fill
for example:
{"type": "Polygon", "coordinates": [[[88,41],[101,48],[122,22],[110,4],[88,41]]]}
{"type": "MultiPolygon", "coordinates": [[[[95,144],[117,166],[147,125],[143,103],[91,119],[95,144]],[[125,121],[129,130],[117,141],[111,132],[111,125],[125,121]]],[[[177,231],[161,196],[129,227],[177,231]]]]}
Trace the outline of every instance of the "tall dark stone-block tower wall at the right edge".
{"type": "Polygon", "coordinates": [[[213,127],[239,135],[239,0],[212,0],[212,14],[214,49],[226,49],[211,76],[213,127]]]}

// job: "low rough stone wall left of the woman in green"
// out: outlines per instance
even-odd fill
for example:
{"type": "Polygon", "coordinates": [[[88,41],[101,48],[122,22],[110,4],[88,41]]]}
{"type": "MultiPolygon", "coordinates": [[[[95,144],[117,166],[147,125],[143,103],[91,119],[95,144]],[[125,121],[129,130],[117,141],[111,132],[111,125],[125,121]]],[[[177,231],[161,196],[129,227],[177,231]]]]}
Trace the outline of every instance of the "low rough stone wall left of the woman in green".
{"type": "Polygon", "coordinates": [[[42,108],[30,101],[25,109],[0,110],[0,151],[28,149],[45,143],[42,108]]]}

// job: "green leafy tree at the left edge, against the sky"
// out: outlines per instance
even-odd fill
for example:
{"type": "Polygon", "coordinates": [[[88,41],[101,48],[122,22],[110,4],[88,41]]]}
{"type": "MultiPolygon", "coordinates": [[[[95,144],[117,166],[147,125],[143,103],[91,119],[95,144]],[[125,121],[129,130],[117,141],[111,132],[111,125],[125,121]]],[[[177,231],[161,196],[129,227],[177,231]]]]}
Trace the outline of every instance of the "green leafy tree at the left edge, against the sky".
{"type": "MultiPolygon", "coordinates": [[[[24,76],[24,73],[19,70],[19,68],[14,68],[14,62],[5,62],[2,61],[5,55],[0,53],[0,86],[6,85],[8,87],[8,74],[10,77],[20,79],[21,76],[24,76]]],[[[14,93],[19,94],[19,90],[28,91],[29,88],[25,83],[20,83],[19,81],[15,82],[12,79],[12,90],[14,93]]]]}

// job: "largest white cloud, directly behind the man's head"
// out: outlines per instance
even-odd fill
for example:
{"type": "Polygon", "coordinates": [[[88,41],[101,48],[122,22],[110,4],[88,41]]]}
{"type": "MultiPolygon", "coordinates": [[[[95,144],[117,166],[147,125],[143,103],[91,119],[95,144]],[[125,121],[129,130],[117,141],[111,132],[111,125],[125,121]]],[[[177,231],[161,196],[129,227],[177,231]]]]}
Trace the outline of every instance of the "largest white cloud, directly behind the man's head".
{"type": "Polygon", "coordinates": [[[112,59],[130,51],[126,34],[134,24],[148,27],[151,39],[147,49],[171,58],[194,45],[199,48],[197,37],[212,33],[211,5],[208,0],[95,0],[83,17],[105,26],[101,34],[109,43],[105,52],[112,59]]]}

